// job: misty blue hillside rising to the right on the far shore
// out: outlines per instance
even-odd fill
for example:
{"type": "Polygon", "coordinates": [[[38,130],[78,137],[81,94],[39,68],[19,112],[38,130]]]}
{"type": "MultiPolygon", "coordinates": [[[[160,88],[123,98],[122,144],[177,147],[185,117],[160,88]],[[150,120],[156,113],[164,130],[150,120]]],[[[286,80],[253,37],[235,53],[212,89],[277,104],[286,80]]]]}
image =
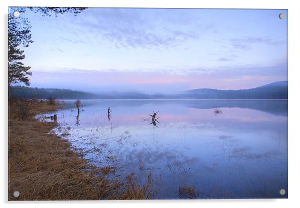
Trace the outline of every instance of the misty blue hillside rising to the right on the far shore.
{"type": "Polygon", "coordinates": [[[183,98],[219,99],[287,99],[288,81],[278,81],[252,89],[218,90],[192,89],[182,94],[183,98]]]}

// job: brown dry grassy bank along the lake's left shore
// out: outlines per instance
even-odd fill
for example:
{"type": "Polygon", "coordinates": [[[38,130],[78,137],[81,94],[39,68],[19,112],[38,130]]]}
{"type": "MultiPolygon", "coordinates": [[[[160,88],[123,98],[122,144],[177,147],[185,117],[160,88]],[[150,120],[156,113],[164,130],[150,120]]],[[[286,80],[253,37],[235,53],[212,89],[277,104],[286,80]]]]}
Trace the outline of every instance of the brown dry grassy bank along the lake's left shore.
{"type": "Polygon", "coordinates": [[[49,133],[56,122],[34,116],[61,106],[48,102],[12,100],[8,112],[8,200],[102,200],[149,199],[151,177],[146,185],[110,181],[106,171],[93,167],[71,143],[49,133]],[[19,197],[13,192],[18,191],[19,197]]]}

